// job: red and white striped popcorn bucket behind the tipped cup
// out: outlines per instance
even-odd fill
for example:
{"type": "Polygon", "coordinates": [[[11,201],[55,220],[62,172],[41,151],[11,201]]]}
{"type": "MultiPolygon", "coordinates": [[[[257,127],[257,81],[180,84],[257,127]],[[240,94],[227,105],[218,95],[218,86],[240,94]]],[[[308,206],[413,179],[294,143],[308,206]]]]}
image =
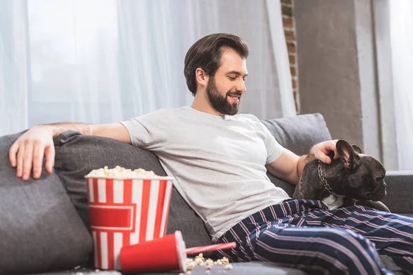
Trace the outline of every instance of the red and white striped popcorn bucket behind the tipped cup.
{"type": "Polygon", "coordinates": [[[85,178],[96,268],[120,270],[123,246],[165,236],[173,177],[85,178]]]}

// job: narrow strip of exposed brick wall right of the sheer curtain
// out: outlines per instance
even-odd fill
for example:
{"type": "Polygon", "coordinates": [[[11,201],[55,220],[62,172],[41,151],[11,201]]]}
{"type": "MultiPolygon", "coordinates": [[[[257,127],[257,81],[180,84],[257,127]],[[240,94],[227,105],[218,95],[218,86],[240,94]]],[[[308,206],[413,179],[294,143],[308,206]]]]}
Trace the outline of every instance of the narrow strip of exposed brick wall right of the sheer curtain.
{"type": "Polygon", "coordinates": [[[294,0],[281,0],[282,22],[286,36],[290,72],[293,80],[293,94],[297,114],[300,113],[298,92],[298,67],[297,67],[297,39],[295,36],[294,0]]]}

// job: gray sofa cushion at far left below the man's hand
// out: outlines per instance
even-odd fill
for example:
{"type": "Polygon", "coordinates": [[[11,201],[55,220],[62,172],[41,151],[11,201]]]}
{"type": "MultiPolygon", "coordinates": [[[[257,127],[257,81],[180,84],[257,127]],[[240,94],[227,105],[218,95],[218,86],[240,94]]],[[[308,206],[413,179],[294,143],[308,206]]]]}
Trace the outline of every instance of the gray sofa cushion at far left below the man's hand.
{"type": "Polygon", "coordinates": [[[81,265],[92,239],[59,177],[44,172],[22,181],[8,151],[21,135],[0,137],[0,274],[26,274],[81,265]]]}

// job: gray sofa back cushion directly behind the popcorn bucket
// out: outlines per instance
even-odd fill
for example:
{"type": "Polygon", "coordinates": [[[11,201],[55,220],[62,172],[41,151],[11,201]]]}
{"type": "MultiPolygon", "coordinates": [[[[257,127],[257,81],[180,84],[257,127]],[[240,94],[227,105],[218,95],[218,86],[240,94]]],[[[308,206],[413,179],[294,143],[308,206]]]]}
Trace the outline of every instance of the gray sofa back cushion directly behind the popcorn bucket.
{"type": "MultiPolygon", "coordinates": [[[[153,153],[110,138],[67,131],[56,137],[54,144],[56,173],[63,181],[74,206],[88,227],[87,188],[84,176],[91,170],[104,166],[113,168],[118,165],[131,169],[153,170],[157,175],[166,175],[153,153]]],[[[211,243],[200,217],[189,208],[178,191],[173,188],[167,234],[176,230],[182,232],[188,247],[211,243]]]]}

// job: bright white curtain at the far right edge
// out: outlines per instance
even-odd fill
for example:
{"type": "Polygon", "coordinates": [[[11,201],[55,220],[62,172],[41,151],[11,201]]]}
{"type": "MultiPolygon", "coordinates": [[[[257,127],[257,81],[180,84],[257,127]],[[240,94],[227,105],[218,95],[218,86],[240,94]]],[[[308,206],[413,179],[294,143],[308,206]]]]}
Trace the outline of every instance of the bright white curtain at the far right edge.
{"type": "Polygon", "coordinates": [[[413,0],[389,4],[399,170],[413,170],[413,0]]]}

